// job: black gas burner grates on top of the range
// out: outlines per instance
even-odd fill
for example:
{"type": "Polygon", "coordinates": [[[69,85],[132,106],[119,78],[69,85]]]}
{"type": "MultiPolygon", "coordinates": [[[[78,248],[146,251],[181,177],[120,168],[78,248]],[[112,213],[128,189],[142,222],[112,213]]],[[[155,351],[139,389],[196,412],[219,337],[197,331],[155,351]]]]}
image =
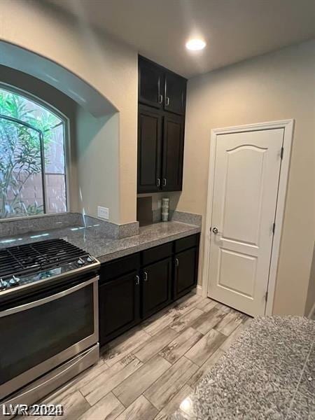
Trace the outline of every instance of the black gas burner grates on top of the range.
{"type": "Polygon", "coordinates": [[[0,249],[0,278],[35,274],[87,255],[85,251],[64,239],[48,239],[33,244],[10,246],[0,249]]]}

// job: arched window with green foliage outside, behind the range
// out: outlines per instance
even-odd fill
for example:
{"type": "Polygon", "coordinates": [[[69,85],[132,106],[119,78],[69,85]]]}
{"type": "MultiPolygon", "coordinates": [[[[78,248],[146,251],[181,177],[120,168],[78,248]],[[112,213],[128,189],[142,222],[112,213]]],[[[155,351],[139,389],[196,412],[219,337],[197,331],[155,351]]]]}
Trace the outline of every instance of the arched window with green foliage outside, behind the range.
{"type": "Polygon", "coordinates": [[[0,218],[66,211],[66,120],[0,85],[0,218]]]}

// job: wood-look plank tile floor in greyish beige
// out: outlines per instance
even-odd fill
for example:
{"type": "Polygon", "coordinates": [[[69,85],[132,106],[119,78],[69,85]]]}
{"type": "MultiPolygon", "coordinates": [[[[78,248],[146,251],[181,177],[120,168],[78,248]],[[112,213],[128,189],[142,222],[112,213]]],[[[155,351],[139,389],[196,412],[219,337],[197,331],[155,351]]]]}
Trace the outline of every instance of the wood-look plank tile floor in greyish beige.
{"type": "Polygon", "coordinates": [[[62,404],[62,419],[167,419],[250,320],[190,293],[107,344],[99,363],[43,402],[62,404]]]}

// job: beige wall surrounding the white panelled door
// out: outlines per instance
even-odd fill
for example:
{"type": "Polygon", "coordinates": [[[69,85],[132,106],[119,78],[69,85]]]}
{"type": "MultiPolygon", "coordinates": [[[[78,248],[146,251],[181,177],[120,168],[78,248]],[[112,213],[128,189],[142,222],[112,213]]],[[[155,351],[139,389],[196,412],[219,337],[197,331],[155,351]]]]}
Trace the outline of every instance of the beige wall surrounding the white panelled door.
{"type": "Polygon", "coordinates": [[[188,81],[183,193],[177,209],[202,214],[203,221],[211,129],[295,119],[274,314],[304,314],[315,230],[314,89],[315,41],[188,81]]]}

